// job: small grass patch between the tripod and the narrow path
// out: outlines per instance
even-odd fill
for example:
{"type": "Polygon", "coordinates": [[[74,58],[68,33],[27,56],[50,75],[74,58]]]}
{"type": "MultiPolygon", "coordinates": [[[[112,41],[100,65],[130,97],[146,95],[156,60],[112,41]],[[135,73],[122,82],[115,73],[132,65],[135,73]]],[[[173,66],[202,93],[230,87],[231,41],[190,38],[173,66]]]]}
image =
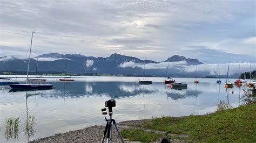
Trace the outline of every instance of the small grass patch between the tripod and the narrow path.
{"type": "Polygon", "coordinates": [[[121,134],[124,138],[129,139],[130,141],[141,141],[141,142],[149,142],[149,141],[158,141],[163,134],[146,132],[142,130],[122,130],[121,134]]]}

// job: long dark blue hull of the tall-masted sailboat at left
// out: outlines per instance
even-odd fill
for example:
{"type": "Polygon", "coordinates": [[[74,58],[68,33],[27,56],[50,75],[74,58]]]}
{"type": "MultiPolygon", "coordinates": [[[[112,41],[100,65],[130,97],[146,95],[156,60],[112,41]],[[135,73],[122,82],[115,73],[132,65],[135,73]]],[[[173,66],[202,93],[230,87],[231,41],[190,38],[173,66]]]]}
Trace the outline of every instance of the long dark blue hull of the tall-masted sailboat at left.
{"type": "Polygon", "coordinates": [[[9,84],[14,89],[44,89],[53,88],[52,84],[9,84]]]}

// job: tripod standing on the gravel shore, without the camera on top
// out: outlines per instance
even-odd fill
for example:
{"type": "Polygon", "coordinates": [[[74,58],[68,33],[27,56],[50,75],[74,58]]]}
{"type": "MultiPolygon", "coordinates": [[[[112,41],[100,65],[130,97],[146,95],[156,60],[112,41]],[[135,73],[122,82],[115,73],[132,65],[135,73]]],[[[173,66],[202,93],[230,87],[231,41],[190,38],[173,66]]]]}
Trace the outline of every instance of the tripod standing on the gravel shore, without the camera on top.
{"type": "MultiPolygon", "coordinates": [[[[102,111],[106,111],[106,108],[102,109],[102,111]]],[[[107,115],[107,112],[102,112],[102,114],[107,115]]],[[[106,123],[106,127],[105,127],[105,130],[104,130],[102,143],[104,142],[105,137],[107,139],[106,140],[107,143],[109,143],[109,140],[112,139],[112,123],[113,123],[114,127],[116,127],[117,132],[119,134],[119,137],[121,138],[122,142],[124,143],[124,139],[122,137],[122,134],[120,133],[120,131],[119,131],[117,125],[116,125],[116,120],[112,119],[112,115],[113,115],[112,106],[109,106],[109,116],[110,116],[110,118],[107,119],[105,117],[105,120],[107,121],[107,123],[106,123]]]]}

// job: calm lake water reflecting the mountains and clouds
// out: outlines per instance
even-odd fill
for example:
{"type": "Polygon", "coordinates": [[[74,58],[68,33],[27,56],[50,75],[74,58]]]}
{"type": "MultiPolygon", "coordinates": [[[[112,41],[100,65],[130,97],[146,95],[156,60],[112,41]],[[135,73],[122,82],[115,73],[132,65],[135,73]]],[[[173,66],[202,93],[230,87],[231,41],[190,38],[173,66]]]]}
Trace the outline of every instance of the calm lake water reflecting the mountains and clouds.
{"type": "MultiPolygon", "coordinates": [[[[19,76],[21,77],[21,76],[19,76]]],[[[46,76],[45,76],[46,77],[46,76]]],[[[214,78],[174,78],[187,83],[187,89],[172,89],[164,78],[149,77],[151,85],[139,85],[143,77],[75,77],[74,82],[59,82],[47,76],[50,90],[12,91],[0,86],[0,142],[26,142],[56,133],[105,125],[101,109],[105,101],[116,99],[113,118],[124,120],[149,119],[161,116],[203,115],[214,112],[219,100],[234,107],[242,104],[239,96],[245,85],[226,90],[214,78]],[[232,94],[232,91],[234,94],[232,94]],[[23,130],[27,115],[35,116],[35,132],[28,137],[23,130]],[[18,139],[5,139],[5,118],[20,117],[18,139]]],[[[56,77],[56,76],[55,76],[56,77]]],[[[24,82],[25,78],[13,78],[24,82]]],[[[234,79],[231,79],[234,82],[234,79]]]]}

